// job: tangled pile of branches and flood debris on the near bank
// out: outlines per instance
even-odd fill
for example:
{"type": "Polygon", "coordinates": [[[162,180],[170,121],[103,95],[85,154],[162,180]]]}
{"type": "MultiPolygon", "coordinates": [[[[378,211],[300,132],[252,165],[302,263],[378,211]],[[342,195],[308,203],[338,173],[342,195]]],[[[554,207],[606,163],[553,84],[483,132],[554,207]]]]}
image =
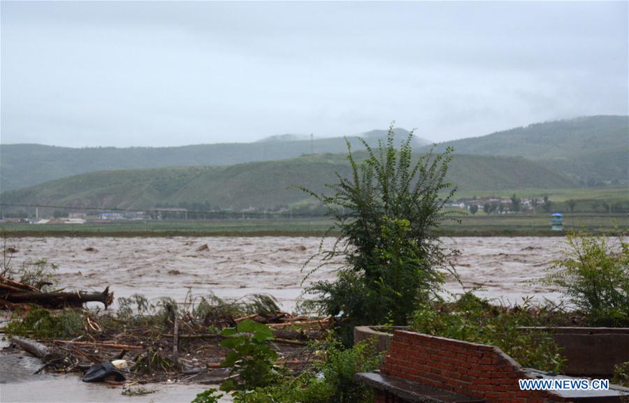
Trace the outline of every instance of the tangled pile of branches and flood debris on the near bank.
{"type": "Polygon", "coordinates": [[[3,353],[33,353],[43,361],[38,372],[85,372],[124,358],[128,367],[120,372],[132,383],[219,383],[229,375],[221,366],[224,328],[247,319],[265,323],[273,329],[277,363],[299,372],[315,357],[308,343],[326,337],[330,324],[329,318],[282,312],[273,297],[260,294],[222,300],[189,293],[182,305],[132,295],[119,298],[118,305],[115,313],[22,305],[3,330],[12,342],[3,353]]]}

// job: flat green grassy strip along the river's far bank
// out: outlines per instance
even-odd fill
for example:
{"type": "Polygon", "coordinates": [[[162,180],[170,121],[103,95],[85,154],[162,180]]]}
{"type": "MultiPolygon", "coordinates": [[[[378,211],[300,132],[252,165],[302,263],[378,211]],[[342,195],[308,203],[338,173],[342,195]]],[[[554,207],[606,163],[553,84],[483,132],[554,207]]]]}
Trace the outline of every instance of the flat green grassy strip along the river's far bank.
{"type": "MultiPolygon", "coordinates": [[[[558,236],[548,214],[477,214],[451,221],[440,232],[452,236],[558,236]]],[[[135,221],[108,224],[1,224],[10,236],[320,236],[332,225],[328,219],[229,219],[207,221],[135,221]]],[[[565,228],[590,233],[629,231],[626,214],[566,214],[565,228]]]]}

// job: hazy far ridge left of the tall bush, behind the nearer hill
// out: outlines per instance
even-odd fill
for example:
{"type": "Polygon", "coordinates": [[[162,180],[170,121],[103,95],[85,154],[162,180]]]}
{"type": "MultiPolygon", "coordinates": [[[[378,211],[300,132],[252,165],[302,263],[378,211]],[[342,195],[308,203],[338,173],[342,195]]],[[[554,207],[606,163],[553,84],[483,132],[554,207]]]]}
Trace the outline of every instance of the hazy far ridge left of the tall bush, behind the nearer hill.
{"type": "MultiPolygon", "coordinates": [[[[408,135],[396,129],[398,140],[408,135]]],[[[161,168],[168,166],[224,166],[252,161],[275,161],[303,154],[347,151],[344,137],[310,141],[303,136],[277,135],[251,143],[188,145],[184,147],[88,147],[68,148],[37,144],[0,145],[0,191],[21,189],[80,173],[99,170],[161,168]]],[[[363,135],[370,145],[386,137],[386,131],[363,135]]],[[[359,138],[347,138],[355,149],[359,138]]],[[[416,145],[427,144],[415,139],[416,145]]]]}

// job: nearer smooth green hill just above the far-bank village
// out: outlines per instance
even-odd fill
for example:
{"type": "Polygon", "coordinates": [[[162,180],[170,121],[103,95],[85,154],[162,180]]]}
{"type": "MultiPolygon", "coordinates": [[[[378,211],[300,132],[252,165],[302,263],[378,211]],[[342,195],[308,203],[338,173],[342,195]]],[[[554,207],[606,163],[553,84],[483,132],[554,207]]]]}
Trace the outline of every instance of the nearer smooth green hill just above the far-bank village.
{"type": "MultiPolygon", "coordinates": [[[[361,152],[357,158],[361,159],[361,152]]],[[[185,203],[209,205],[212,209],[268,209],[308,199],[302,191],[287,189],[290,185],[326,191],[325,184],[335,182],[335,172],[349,174],[342,154],[233,166],[100,171],[2,193],[0,200],[10,204],[131,209],[185,203]]],[[[448,179],[461,190],[575,186],[571,179],[537,163],[503,156],[455,156],[448,179]]]]}

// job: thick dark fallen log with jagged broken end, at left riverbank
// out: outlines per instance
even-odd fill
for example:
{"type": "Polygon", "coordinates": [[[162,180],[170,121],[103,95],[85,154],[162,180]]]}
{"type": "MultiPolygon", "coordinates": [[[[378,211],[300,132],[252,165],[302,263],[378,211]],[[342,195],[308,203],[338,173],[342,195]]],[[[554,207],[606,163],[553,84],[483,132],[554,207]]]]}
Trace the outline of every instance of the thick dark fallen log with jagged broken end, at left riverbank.
{"type": "Polygon", "coordinates": [[[0,291],[0,298],[12,303],[33,303],[47,308],[82,307],[85,302],[102,302],[107,308],[113,303],[113,293],[106,287],[102,293],[76,291],[70,293],[42,293],[38,291],[0,291]]]}

